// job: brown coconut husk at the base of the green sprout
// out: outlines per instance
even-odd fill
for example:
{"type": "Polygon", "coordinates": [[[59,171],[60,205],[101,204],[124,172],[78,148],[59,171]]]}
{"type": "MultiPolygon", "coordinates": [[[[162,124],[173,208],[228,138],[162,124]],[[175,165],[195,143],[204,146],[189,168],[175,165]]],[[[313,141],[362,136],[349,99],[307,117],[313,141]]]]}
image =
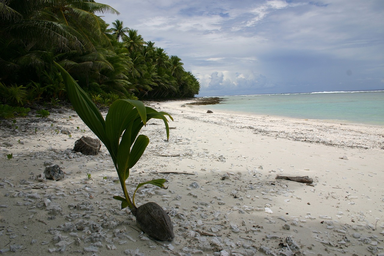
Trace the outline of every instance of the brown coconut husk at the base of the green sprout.
{"type": "Polygon", "coordinates": [[[145,233],[161,241],[172,240],[173,224],[157,203],[149,202],[136,209],[136,224],[145,233]]]}

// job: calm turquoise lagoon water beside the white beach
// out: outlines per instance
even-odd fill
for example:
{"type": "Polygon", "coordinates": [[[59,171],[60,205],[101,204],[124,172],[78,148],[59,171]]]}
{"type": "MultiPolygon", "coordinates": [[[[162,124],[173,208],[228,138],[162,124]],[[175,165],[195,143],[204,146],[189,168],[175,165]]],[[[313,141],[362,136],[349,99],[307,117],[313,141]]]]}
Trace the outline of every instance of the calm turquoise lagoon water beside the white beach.
{"type": "Polygon", "coordinates": [[[384,91],[220,96],[211,110],[384,126],[384,91]]]}

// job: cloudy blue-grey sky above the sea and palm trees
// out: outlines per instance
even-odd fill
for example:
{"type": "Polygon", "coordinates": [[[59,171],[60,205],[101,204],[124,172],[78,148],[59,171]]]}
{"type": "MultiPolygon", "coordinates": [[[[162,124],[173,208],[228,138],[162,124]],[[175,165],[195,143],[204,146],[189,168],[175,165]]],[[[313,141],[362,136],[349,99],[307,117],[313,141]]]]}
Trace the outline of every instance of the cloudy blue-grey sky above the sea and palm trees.
{"type": "Polygon", "coordinates": [[[96,0],[200,82],[197,96],[384,89],[384,0],[96,0]]]}

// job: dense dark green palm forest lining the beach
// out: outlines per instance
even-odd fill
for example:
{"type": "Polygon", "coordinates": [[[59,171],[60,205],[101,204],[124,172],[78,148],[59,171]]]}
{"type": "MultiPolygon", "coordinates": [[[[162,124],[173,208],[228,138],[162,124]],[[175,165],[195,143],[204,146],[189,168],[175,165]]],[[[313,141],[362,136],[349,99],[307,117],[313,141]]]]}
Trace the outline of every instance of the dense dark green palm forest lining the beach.
{"type": "Polygon", "coordinates": [[[98,106],[117,99],[192,98],[200,83],[181,59],[93,0],[0,1],[0,117],[68,102],[59,63],[98,106]]]}

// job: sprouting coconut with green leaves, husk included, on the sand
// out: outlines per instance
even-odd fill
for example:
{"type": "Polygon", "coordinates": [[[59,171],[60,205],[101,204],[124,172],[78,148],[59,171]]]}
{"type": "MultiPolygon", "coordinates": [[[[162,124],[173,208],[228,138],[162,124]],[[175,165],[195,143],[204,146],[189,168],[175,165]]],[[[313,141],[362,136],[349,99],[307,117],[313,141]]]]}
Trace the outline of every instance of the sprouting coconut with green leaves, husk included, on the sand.
{"type": "Polygon", "coordinates": [[[172,116],[146,107],[138,100],[116,100],[110,106],[104,120],[96,105],[70,74],[58,63],[55,65],[61,72],[66,92],[74,110],[104,143],[111,155],[124,194],[124,197],[114,196],[113,198],[121,201],[121,209],[128,207],[131,210],[136,217],[137,226],[142,231],[162,241],[173,239],[172,221],[161,206],[149,202],[136,207],[134,201],[136,191],[141,186],[152,184],[167,189],[164,186],[167,180],[157,179],[140,183],[132,194],[132,198],[125,184],[129,177],[129,170],[139,161],[149,144],[149,138],[146,135],[139,135],[141,128],[151,118],[161,119],[164,121],[168,139],[169,126],[166,116],[173,120],[172,116]]]}

